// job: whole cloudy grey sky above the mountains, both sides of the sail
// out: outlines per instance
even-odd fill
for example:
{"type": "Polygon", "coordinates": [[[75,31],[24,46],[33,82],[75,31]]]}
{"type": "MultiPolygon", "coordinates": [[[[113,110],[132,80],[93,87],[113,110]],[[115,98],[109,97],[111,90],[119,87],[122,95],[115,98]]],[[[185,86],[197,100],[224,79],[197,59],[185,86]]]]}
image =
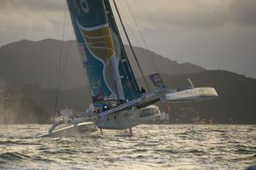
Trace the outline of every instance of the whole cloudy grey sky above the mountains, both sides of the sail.
{"type": "MultiPolygon", "coordinates": [[[[256,0],[116,3],[134,45],[147,47],[141,31],[150,50],[178,63],[190,62],[256,78],[256,0]]],[[[66,0],[1,0],[0,46],[21,39],[61,40],[65,18],[64,39],[73,39],[66,6],[66,0]]]]}

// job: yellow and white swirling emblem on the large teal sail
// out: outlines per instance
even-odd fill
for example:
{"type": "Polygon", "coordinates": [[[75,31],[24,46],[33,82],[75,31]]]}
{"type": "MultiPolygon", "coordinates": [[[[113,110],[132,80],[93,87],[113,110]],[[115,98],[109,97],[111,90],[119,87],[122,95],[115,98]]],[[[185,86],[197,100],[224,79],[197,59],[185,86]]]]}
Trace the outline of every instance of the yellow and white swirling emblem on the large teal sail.
{"type": "Polygon", "coordinates": [[[103,64],[103,80],[110,91],[108,97],[116,98],[119,94],[119,98],[123,99],[124,93],[119,77],[118,63],[108,24],[84,27],[81,26],[77,20],[76,23],[79,26],[79,31],[84,39],[83,44],[88,49],[90,55],[101,61],[103,64]]]}

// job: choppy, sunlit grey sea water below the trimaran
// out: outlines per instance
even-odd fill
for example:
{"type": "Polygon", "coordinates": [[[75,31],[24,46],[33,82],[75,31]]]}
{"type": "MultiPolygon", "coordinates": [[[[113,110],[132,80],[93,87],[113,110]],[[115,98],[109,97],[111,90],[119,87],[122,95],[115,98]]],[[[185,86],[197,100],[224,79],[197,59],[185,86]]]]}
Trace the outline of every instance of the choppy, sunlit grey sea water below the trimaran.
{"type": "Polygon", "coordinates": [[[254,125],[141,125],[38,139],[49,125],[0,125],[3,169],[246,169],[256,165],[254,125]]]}

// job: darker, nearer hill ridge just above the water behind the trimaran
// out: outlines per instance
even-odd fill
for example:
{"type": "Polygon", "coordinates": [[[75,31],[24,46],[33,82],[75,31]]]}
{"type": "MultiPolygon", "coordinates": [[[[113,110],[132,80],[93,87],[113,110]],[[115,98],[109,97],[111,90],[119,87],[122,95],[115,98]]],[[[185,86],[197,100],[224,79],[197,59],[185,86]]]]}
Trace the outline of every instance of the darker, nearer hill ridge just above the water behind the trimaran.
{"type": "MultiPolygon", "coordinates": [[[[168,104],[160,102],[160,111],[169,114],[166,123],[194,123],[194,120],[205,123],[242,123],[256,124],[256,79],[247,78],[230,71],[201,71],[189,75],[162,74],[166,88],[189,86],[187,78],[195,87],[214,87],[218,92],[217,99],[201,102],[168,104]],[[166,109],[167,106],[167,109],[166,109]]],[[[142,80],[139,80],[142,81],[142,80]]],[[[150,83],[151,89],[154,88],[150,83]]],[[[12,123],[49,123],[54,116],[55,88],[41,88],[39,85],[23,85],[20,88],[6,89],[6,99],[0,105],[0,117],[12,123]],[[9,95],[11,94],[11,95],[9,95]],[[19,108],[17,108],[19,105],[19,108]],[[1,111],[1,108],[9,110],[1,111]],[[10,114],[12,113],[12,114],[10,114]],[[43,115],[42,115],[43,114],[43,115]],[[12,117],[9,118],[9,115],[12,117]],[[14,116],[17,118],[14,119],[14,116]],[[25,117],[29,117],[26,119],[25,117]],[[20,118],[22,117],[22,119],[20,118]],[[44,117],[44,118],[43,118],[44,117]]],[[[1,94],[1,91],[0,91],[1,94]]],[[[0,95],[1,96],[1,95],[0,95]]],[[[61,90],[58,109],[70,108],[84,112],[91,103],[89,87],[61,90]]],[[[0,122],[1,123],[1,122],[0,122]]]]}

